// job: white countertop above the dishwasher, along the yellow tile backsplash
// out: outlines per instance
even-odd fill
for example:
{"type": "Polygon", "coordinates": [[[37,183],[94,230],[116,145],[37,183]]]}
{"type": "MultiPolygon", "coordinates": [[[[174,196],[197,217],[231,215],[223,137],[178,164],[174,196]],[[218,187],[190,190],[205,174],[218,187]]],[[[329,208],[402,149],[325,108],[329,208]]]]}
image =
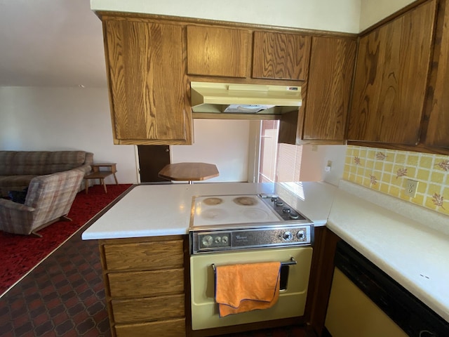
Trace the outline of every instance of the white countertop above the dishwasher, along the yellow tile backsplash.
{"type": "Polygon", "coordinates": [[[449,218],[343,184],[328,228],[449,322],[449,235],[439,230],[449,226],[449,218]],[[382,203],[390,209],[378,205],[382,203]],[[420,223],[415,213],[426,215],[427,223],[420,223]]]}

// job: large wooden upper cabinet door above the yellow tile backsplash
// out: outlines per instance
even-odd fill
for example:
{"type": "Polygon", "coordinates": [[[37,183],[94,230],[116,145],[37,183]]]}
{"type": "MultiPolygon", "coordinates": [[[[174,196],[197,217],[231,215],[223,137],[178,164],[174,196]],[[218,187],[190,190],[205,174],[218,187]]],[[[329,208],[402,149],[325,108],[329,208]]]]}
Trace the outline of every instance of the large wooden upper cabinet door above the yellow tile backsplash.
{"type": "Polygon", "coordinates": [[[436,1],[427,1],[361,38],[349,140],[417,144],[436,1]]]}

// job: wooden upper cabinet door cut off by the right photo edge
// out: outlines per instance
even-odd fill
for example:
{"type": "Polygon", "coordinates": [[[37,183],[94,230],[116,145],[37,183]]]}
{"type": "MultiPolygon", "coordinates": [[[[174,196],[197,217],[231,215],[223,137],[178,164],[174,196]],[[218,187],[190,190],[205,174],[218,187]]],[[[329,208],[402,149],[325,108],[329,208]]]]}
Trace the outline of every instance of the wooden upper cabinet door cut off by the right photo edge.
{"type": "Polygon", "coordinates": [[[449,1],[443,4],[436,27],[424,138],[424,144],[433,147],[449,147],[449,1]]]}

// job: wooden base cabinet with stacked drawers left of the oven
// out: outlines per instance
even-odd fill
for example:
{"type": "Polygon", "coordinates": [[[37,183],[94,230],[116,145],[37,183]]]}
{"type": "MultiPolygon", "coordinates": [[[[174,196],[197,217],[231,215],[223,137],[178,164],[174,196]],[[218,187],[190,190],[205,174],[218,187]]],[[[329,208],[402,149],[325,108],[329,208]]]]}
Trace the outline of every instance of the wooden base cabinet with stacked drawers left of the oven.
{"type": "Polygon", "coordinates": [[[99,244],[112,336],[185,336],[187,238],[106,239],[99,244]]]}

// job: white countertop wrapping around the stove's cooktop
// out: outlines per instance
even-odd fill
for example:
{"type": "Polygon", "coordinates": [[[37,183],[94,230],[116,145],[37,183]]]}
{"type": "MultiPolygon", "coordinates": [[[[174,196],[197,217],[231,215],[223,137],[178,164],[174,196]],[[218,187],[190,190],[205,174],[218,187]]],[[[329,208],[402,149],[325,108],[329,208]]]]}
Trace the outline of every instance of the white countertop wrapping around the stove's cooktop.
{"type": "Polygon", "coordinates": [[[279,194],[316,226],[326,225],[337,188],[327,183],[298,183],[295,193],[272,183],[197,183],[138,185],[83,232],[83,239],[117,239],[187,234],[192,197],[220,194],[279,194]],[[317,202],[319,200],[319,202],[317,202]]]}

